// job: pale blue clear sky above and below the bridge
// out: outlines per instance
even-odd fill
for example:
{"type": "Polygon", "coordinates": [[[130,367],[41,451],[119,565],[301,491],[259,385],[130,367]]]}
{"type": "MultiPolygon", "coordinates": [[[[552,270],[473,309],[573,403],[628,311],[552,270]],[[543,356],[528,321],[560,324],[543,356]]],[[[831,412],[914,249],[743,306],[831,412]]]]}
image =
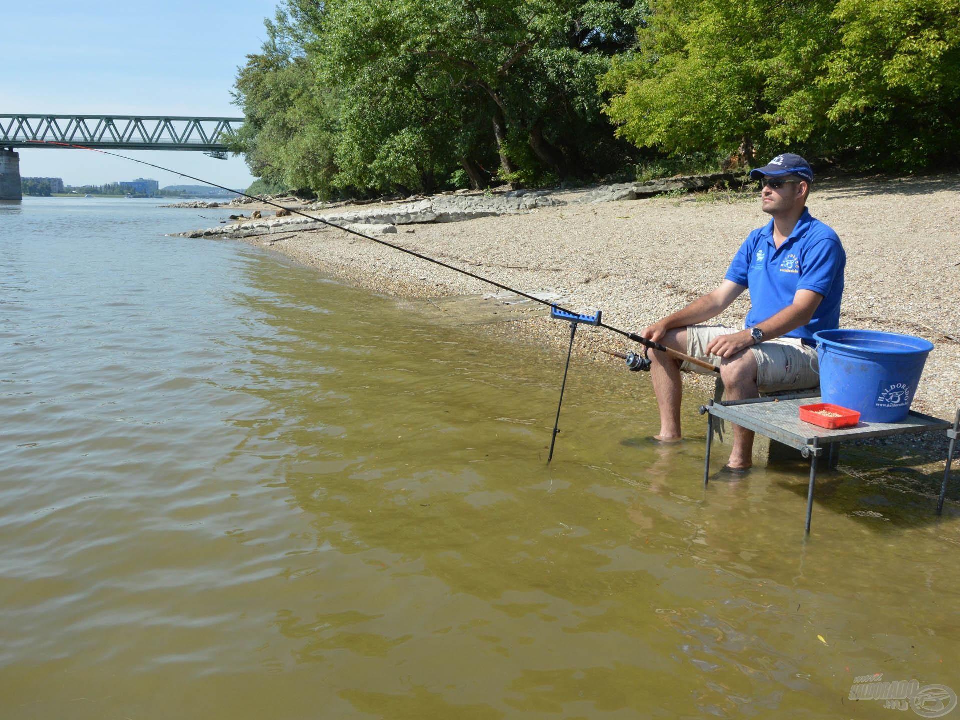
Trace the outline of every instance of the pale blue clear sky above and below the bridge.
{"type": "MultiPolygon", "coordinates": [[[[266,38],[276,0],[230,2],[10,2],[3,11],[0,114],[196,115],[242,117],[230,90],[246,56],[266,38]]],[[[23,149],[24,177],[70,185],[152,178],[196,184],[115,157],[23,149]]],[[[123,152],[234,188],[252,182],[243,157],[123,152]]]]}

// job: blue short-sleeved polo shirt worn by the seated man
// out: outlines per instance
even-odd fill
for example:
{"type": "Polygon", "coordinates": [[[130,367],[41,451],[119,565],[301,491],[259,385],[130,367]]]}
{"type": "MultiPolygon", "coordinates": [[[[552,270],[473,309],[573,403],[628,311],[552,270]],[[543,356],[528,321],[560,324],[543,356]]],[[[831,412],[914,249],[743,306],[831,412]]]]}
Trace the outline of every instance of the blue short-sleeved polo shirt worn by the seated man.
{"type": "Polygon", "coordinates": [[[837,233],[804,209],[797,227],[780,250],[774,244],[774,221],[757,228],[733,257],[727,279],[750,288],[747,327],[772,318],[793,304],[798,290],[812,290],[824,296],[809,324],[784,337],[813,340],[818,330],[840,326],[843,272],[847,253],[837,233]]]}

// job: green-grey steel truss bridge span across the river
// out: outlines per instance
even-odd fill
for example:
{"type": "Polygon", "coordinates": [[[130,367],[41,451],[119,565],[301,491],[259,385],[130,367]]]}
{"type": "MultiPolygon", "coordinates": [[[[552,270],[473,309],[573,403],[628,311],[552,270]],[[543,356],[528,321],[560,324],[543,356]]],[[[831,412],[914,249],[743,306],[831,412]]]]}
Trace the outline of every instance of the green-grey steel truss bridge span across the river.
{"type": "Polygon", "coordinates": [[[242,117],[0,115],[0,149],[193,150],[226,158],[242,117]]]}

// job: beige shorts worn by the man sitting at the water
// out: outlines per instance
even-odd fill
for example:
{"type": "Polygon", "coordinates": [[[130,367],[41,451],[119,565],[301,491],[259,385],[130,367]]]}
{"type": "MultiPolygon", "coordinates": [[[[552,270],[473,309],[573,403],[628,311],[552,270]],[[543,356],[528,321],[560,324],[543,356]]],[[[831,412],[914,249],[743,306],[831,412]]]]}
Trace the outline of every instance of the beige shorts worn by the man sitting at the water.
{"type": "MultiPolygon", "coordinates": [[[[740,330],[722,325],[693,325],[686,328],[686,354],[716,366],[720,358],[707,354],[707,346],[714,338],[740,330]]],[[[779,393],[784,390],[806,390],[820,384],[820,363],[817,348],[805,346],[799,338],[766,340],[750,348],[756,359],[756,387],[761,393],[779,393]]],[[[684,372],[711,374],[684,361],[684,372]]]]}

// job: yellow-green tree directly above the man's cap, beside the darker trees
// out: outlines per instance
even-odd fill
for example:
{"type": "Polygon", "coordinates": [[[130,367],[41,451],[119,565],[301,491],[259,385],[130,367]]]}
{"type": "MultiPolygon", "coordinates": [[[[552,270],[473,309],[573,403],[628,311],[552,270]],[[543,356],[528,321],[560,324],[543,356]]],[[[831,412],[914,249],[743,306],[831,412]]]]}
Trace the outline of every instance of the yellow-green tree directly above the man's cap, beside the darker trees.
{"type": "MultiPolygon", "coordinates": [[[[834,33],[833,0],[662,0],[601,82],[617,134],[670,154],[780,149],[777,110],[803,106],[834,33]]],[[[803,113],[796,113],[801,116],[803,113]]]]}

